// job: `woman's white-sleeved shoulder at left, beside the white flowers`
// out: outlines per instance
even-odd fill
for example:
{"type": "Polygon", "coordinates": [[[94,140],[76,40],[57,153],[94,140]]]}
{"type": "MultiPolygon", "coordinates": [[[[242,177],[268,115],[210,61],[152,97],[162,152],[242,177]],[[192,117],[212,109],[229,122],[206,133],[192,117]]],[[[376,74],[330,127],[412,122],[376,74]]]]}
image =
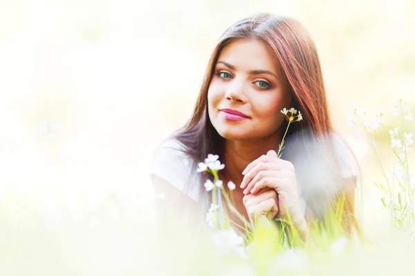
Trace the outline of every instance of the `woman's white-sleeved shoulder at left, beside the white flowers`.
{"type": "Polygon", "coordinates": [[[160,177],[194,201],[198,201],[199,175],[193,172],[194,161],[185,150],[185,146],[176,139],[163,141],[151,159],[150,174],[160,177]]]}

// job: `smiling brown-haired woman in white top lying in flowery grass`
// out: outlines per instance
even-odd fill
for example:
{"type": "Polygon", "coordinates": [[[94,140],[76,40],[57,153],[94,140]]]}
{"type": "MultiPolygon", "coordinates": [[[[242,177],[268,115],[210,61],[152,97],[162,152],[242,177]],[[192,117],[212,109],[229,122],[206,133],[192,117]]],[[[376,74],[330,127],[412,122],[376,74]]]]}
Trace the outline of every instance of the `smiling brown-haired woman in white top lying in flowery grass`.
{"type": "MultiPolygon", "coordinates": [[[[343,226],[350,233],[354,159],[333,132],[315,44],[294,19],[255,14],[223,33],[190,121],[154,156],[154,188],[166,197],[159,201],[160,212],[173,208],[191,220],[205,214],[211,195],[203,183],[209,175],[198,174],[196,166],[208,154],[225,164],[219,171],[223,183],[237,184],[235,207],[247,221],[289,213],[306,237],[307,222],[323,221],[344,195],[343,226]],[[278,158],[275,150],[287,126],[284,108],[300,110],[304,120],[291,124],[278,158]]],[[[229,206],[219,208],[243,227],[229,206]]]]}

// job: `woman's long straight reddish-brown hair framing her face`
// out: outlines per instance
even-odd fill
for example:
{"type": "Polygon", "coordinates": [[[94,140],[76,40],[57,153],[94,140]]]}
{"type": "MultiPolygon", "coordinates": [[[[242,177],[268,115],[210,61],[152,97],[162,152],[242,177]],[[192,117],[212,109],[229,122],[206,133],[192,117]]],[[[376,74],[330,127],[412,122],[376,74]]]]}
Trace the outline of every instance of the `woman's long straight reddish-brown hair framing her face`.
{"type": "MultiPolygon", "coordinates": [[[[208,89],[221,50],[237,39],[261,41],[279,64],[283,81],[293,99],[292,107],[301,110],[304,117],[303,121],[291,125],[286,139],[295,133],[306,132],[313,145],[323,147],[325,137],[329,137],[333,127],[315,43],[304,26],[295,19],[261,13],[234,23],[222,34],[210,57],[193,115],[174,135],[185,146],[185,153],[194,160],[194,165],[203,161],[209,153],[221,156],[223,137],[216,132],[208,115],[208,89]]],[[[302,144],[305,151],[310,151],[306,143],[302,144]]],[[[333,171],[336,171],[336,163],[335,158],[329,161],[333,171]]],[[[200,185],[200,190],[203,197],[208,196],[203,193],[203,185],[200,185]]],[[[331,195],[331,199],[334,197],[331,195]]],[[[344,208],[349,208],[344,213],[353,213],[353,206],[344,208]]],[[[318,213],[317,210],[315,212],[318,213]]]]}

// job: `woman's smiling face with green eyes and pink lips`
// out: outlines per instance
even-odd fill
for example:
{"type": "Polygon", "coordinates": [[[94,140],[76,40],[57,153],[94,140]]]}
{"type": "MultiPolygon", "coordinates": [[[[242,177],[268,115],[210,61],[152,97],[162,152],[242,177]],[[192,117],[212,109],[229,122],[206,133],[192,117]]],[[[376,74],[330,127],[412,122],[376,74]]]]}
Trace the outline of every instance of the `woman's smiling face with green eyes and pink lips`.
{"type": "Polygon", "coordinates": [[[261,139],[279,130],[285,120],[281,110],[291,108],[291,95],[278,72],[261,41],[238,39],[223,48],[208,90],[209,117],[219,135],[261,139]]]}

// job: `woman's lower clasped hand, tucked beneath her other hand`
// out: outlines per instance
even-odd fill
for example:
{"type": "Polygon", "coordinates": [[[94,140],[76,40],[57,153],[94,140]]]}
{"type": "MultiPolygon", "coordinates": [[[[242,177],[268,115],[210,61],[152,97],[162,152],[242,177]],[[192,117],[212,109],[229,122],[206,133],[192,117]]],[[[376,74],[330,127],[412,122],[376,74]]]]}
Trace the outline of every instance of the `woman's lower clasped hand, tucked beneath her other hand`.
{"type": "Polygon", "coordinates": [[[245,195],[242,199],[250,222],[273,219],[278,213],[277,192],[274,189],[264,188],[256,195],[245,195]]]}

